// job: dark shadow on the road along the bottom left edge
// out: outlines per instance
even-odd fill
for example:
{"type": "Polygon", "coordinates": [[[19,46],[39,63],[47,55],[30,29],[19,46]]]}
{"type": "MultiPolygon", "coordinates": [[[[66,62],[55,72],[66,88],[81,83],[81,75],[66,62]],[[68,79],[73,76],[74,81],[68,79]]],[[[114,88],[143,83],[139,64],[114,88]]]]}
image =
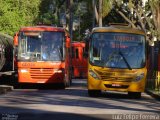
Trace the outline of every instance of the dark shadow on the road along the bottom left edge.
{"type": "Polygon", "coordinates": [[[111,120],[112,115],[98,115],[98,114],[74,114],[63,112],[47,112],[43,110],[34,110],[29,112],[30,109],[13,108],[13,107],[0,107],[4,109],[0,114],[2,120],[111,120]],[[10,112],[10,110],[16,112],[10,112]],[[21,112],[23,111],[23,112],[21,112]]]}

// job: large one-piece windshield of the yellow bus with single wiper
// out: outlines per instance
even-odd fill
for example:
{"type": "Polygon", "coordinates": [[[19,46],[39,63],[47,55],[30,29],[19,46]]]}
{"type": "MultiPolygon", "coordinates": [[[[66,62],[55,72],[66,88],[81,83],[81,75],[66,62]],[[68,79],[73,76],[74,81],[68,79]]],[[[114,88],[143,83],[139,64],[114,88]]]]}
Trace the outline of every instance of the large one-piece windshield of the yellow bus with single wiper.
{"type": "Polygon", "coordinates": [[[89,61],[108,68],[138,69],[145,66],[145,36],[129,33],[94,33],[89,61]]]}

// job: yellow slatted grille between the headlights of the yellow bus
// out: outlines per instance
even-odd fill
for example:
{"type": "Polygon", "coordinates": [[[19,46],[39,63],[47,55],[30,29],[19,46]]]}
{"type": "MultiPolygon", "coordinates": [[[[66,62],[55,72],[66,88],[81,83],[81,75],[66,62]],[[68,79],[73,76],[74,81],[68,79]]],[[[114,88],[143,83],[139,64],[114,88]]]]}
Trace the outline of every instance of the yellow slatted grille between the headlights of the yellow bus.
{"type": "Polygon", "coordinates": [[[133,73],[121,72],[108,72],[95,70],[104,81],[117,81],[117,82],[131,82],[133,80],[133,73]]]}

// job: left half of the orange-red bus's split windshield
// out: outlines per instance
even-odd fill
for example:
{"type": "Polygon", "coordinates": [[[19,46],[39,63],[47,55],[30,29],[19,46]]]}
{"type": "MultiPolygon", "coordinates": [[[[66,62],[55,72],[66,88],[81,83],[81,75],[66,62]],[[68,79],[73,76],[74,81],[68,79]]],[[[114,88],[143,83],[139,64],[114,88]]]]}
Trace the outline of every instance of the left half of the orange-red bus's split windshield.
{"type": "Polygon", "coordinates": [[[36,61],[40,60],[40,34],[31,34],[21,32],[18,44],[19,61],[36,61]]]}

